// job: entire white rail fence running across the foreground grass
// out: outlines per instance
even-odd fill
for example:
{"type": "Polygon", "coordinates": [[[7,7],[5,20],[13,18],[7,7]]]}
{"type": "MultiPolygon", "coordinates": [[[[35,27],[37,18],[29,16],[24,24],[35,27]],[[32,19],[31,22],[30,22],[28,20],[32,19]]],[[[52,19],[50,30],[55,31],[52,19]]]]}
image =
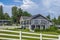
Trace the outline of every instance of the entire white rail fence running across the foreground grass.
{"type": "MultiPolygon", "coordinates": [[[[24,38],[35,38],[35,39],[40,39],[40,40],[43,40],[43,39],[46,39],[46,40],[60,40],[60,35],[51,35],[51,34],[42,34],[42,33],[31,33],[31,32],[22,32],[22,31],[12,31],[12,30],[0,30],[0,31],[3,31],[3,32],[13,32],[13,33],[19,33],[19,35],[15,35],[15,34],[4,34],[4,33],[0,33],[0,35],[6,35],[6,36],[17,36],[19,37],[20,39],[14,39],[14,40],[22,40],[22,37],[24,38]],[[22,34],[27,34],[27,35],[37,35],[37,36],[27,36],[27,35],[22,35],[22,34]],[[57,38],[44,38],[43,36],[54,36],[54,37],[57,37],[57,38]]],[[[13,38],[1,38],[0,39],[11,39],[13,40],[13,38]]]]}

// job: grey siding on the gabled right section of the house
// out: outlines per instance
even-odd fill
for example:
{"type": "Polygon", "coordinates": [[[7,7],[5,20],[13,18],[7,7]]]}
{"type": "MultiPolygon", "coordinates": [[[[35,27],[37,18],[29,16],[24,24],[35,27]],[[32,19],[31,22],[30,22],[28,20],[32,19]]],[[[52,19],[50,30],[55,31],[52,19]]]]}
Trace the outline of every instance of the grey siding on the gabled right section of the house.
{"type": "MultiPolygon", "coordinates": [[[[36,19],[32,19],[31,20],[31,25],[45,25],[45,29],[49,28],[50,27],[50,22],[46,19],[44,19],[43,17],[38,17],[36,19]],[[38,24],[36,24],[36,21],[35,20],[38,20],[38,24]]],[[[42,26],[40,27],[40,29],[43,29],[42,26]]]]}

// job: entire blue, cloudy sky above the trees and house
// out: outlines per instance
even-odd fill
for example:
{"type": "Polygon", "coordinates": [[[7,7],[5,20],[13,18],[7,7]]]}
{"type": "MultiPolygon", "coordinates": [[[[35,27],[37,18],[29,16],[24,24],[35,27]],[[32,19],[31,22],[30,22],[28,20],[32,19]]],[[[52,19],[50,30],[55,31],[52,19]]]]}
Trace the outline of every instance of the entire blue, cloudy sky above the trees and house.
{"type": "Polygon", "coordinates": [[[32,15],[51,15],[51,18],[60,16],[60,0],[0,0],[0,5],[3,5],[4,13],[7,12],[10,16],[13,6],[22,8],[32,15]]]}

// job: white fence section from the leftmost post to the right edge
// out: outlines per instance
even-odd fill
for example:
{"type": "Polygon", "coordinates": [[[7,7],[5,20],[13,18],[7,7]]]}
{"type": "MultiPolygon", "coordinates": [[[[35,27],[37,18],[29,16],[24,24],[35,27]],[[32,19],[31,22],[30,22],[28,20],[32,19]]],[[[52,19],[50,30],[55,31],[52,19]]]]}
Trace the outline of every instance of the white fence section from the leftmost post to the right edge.
{"type": "Polygon", "coordinates": [[[51,35],[51,34],[37,34],[37,33],[29,33],[29,32],[20,32],[20,40],[22,40],[22,37],[25,38],[35,38],[35,39],[46,39],[46,40],[60,40],[60,35],[51,35]],[[22,36],[22,34],[32,34],[32,35],[40,35],[40,37],[33,37],[33,36],[22,36]],[[58,37],[58,38],[43,38],[43,36],[54,36],[54,37],[58,37]]]}

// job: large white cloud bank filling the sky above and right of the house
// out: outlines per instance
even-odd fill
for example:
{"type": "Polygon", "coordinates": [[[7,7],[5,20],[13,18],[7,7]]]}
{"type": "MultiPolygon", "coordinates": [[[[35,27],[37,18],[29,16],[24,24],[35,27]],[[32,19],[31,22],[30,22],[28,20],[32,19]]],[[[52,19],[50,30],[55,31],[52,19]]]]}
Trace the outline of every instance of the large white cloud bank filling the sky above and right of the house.
{"type": "Polygon", "coordinates": [[[39,0],[37,3],[32,0],[23,0],[21,8],[30,13],[40,13],[42,15],[50,14],[51,17],[58,17],[60,15],[60,0],[39,0]]]}

